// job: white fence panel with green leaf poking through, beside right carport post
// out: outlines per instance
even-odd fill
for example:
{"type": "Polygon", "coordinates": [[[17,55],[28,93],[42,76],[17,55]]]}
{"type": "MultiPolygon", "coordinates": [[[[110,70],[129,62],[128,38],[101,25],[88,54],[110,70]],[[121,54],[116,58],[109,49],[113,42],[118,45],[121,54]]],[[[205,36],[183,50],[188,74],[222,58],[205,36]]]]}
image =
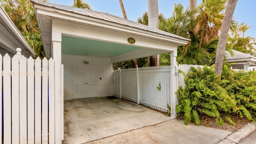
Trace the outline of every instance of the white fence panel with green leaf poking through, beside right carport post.
{"type": "Polygon", "coordinates": [[[140,103],[157,110],[167,111],[170,97],[170,66],[139,68],[138,72],[140,103]]]}

